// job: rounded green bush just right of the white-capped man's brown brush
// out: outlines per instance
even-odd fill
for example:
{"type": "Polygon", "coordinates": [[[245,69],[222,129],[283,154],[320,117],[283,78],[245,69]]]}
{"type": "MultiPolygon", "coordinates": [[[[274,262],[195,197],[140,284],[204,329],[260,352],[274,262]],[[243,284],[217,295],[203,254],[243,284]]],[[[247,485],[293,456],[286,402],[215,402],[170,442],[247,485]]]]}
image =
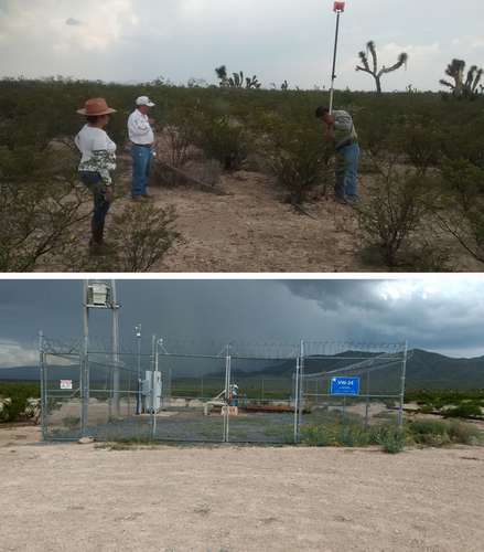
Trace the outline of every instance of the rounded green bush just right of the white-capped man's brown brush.
{"type": "Polygon", "coordinates": [[[243,124],[228,115],[205,115],[196,125],[196,146],[207,159],[216,159],[227,171],[241,168],[249,152],[249,136],[243,124]]]}

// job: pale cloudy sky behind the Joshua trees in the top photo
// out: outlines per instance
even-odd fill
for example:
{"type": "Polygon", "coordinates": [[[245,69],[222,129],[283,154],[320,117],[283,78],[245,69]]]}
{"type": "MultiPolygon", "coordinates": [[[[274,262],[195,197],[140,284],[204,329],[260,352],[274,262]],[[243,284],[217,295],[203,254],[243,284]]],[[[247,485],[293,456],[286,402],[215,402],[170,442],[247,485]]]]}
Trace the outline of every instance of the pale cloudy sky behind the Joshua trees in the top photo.
{"type": "MultiPolygon", "coordinates": [[[[377,43],[407,71],[386,89],[438,89],[453,57],[484,64],[482,0],[347,0],[338,87],[370,89],[357,52],[377,43]]],[[[333,0],[0,0],[1,75],[104,81],[215,81],[214,67],[256,73],[269,86],[329,85],[333,0]]]]}

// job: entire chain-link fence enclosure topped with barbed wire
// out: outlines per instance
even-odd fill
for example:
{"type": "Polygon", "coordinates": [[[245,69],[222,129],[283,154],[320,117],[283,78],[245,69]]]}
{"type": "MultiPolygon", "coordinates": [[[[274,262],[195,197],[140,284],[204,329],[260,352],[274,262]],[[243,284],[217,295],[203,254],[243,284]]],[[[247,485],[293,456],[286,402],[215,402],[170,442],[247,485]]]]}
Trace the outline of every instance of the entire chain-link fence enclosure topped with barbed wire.
{"type": "Polygon", "coordinates": [[[314,427],[401,424],[404,344],[205,343],[150,352],[41,341],[45,439],[298,443],[314,427]]]}

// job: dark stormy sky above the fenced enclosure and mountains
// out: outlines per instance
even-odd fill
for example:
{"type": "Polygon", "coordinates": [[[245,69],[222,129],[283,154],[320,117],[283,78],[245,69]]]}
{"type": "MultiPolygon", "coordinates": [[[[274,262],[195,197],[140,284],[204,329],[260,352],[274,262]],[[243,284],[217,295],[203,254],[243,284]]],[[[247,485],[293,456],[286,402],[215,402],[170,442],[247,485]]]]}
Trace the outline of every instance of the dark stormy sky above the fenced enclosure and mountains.
{"type": "MultiPolygon", "coordinates": [[[[453,357],[484,354],[484,277],[399,280],[120,280],[120,332],[196,342],[401,342],[453,357]]],[[[79,280],[0,280],[0,367],[36,362],[36,333],[82,336],[79,280]]],[[[106,311],[92,335],[107,336],[106,311]]],[[[132,347],[131,347],[132,344],[132,347]]]]}

